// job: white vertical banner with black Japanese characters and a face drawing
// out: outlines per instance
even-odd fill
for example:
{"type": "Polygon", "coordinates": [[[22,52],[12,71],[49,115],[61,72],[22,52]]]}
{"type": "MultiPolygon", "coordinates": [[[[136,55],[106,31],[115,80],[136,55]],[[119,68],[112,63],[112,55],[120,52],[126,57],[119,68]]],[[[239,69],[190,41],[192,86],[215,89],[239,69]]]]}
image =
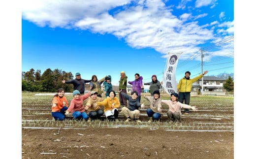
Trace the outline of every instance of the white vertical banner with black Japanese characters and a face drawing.
{"type": "Polygon", "coordinates": [[[182,53],[169,53],[167,61],[166,61],[166,66],[165,70],[163,72],[162,76],[162,87],[166,93],[169,95],[172,93],[177,92],[177,82],[176,82],[176,67],[178,64],[179,56],[182,53]]]}

